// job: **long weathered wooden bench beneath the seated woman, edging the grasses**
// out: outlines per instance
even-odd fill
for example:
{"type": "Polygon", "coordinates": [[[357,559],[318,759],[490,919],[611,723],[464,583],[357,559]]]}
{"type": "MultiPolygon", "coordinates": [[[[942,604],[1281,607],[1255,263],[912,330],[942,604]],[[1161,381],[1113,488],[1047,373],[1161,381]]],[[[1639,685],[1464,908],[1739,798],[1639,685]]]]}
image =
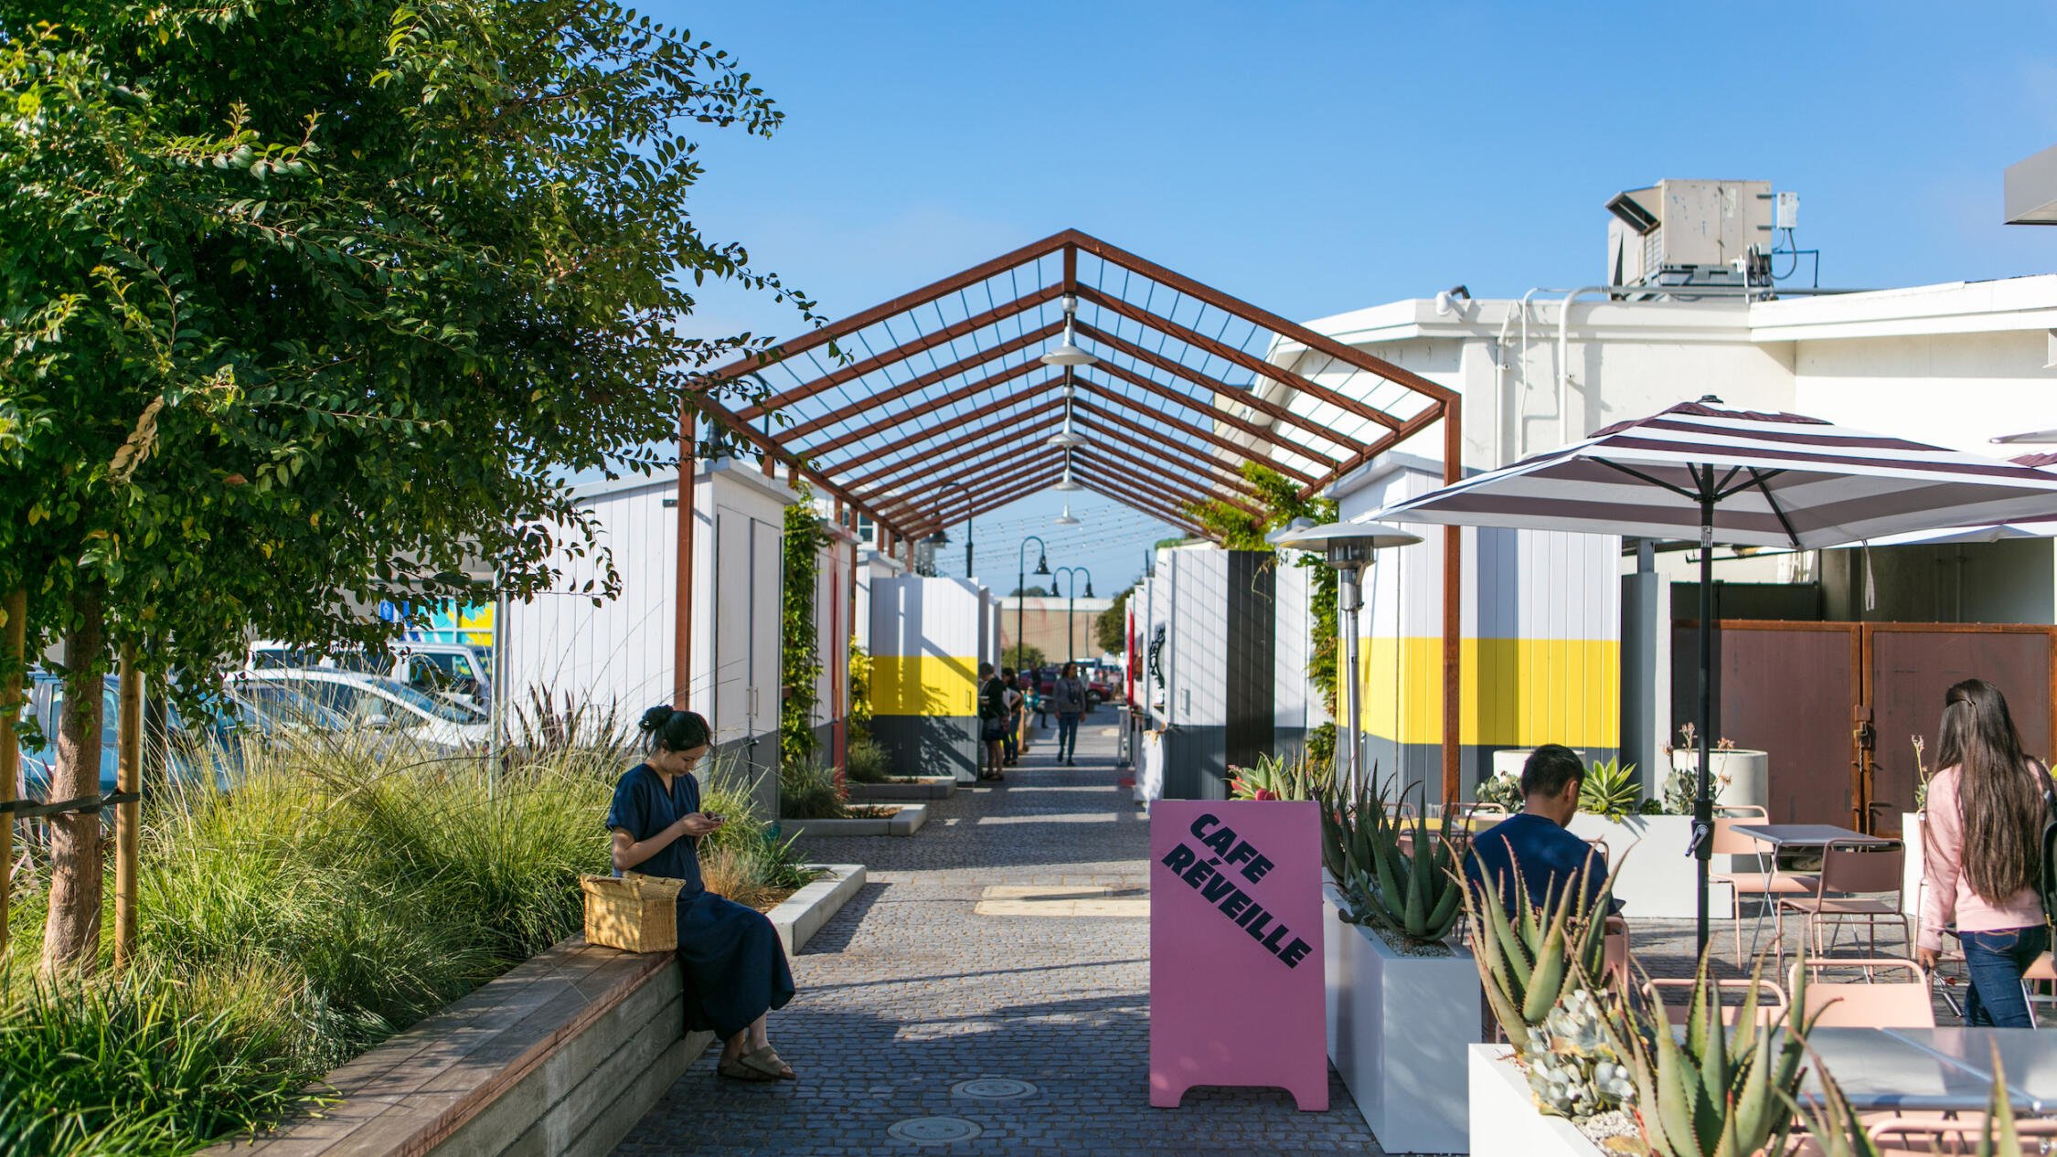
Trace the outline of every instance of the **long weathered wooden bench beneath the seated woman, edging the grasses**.
{"type": "Polygon", "coordinates": [[[714,1044],[679,964],[568,939],[329,1073],[341,1104],[208,1157],[603,1155],[714,1044]]]}

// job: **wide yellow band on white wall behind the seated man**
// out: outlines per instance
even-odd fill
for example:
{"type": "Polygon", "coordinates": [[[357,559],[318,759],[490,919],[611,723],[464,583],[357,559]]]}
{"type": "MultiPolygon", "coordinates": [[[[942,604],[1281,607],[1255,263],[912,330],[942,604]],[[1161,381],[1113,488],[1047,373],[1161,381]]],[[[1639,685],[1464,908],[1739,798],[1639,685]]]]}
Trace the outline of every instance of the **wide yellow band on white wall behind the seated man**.
{"type": "MultiPolygon", "coordinates": [[[[1465,639],[1458,742],[1526,748],[1621,742],[1621,643],[1615,639],[1465,639]]],[[[1366,639],[1366,734],[1442,742],[1442,639],[1366,639]]]]}

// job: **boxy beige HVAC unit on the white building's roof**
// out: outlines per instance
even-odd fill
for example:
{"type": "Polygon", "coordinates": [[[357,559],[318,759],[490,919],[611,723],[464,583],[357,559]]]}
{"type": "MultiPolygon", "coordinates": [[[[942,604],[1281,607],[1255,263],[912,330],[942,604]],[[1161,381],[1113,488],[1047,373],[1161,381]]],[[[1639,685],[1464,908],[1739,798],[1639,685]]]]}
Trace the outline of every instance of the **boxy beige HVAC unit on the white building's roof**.
{"type": "Polygon", "coordinates": [[[1615,286],[1769,286],[1771,181],[1658,181],[1607,201],[1615,286]]]}

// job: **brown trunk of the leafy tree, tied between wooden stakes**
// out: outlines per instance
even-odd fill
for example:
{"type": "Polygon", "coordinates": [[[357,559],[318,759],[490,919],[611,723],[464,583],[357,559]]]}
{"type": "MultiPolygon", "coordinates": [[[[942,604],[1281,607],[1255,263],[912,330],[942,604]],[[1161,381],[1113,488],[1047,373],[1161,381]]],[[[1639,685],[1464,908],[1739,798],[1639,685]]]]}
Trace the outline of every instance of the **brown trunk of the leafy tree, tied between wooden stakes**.
{"type": "MultiPolygon", "coordinates": [[[[76,627],[64,637],[64,717],[58,723],[58,769],[51,799],[78,799],[101,789],[101,592],[72,596],[76,627]]],[[[49,923],[43,925],[43,972],[93,972],[101,956],[101,816],[60,812],[49,818],[49,923]]]]}

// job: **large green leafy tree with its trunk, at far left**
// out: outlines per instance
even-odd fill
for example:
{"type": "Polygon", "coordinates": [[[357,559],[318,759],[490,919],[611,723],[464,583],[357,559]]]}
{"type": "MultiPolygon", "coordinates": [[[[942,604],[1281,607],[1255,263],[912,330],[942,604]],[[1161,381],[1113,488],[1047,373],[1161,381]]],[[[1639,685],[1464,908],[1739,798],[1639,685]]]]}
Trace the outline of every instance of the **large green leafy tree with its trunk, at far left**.
{"type": "MultiPolygon", "coordinates": [[[[603,549],[564,479],[664,464],[701,370],[761,349],[687,335],[695,286],[813,316],[685,214],[685,129],[782,113],[615,4],[6,12],[0,590],[27,654],[64,641],[56,795],[99,789],[113,647],[197,688],[253,629],[551,588],[603,549]]],[[[53,828],[45,966],[91,966],[99,818],[53,828]]]]}

